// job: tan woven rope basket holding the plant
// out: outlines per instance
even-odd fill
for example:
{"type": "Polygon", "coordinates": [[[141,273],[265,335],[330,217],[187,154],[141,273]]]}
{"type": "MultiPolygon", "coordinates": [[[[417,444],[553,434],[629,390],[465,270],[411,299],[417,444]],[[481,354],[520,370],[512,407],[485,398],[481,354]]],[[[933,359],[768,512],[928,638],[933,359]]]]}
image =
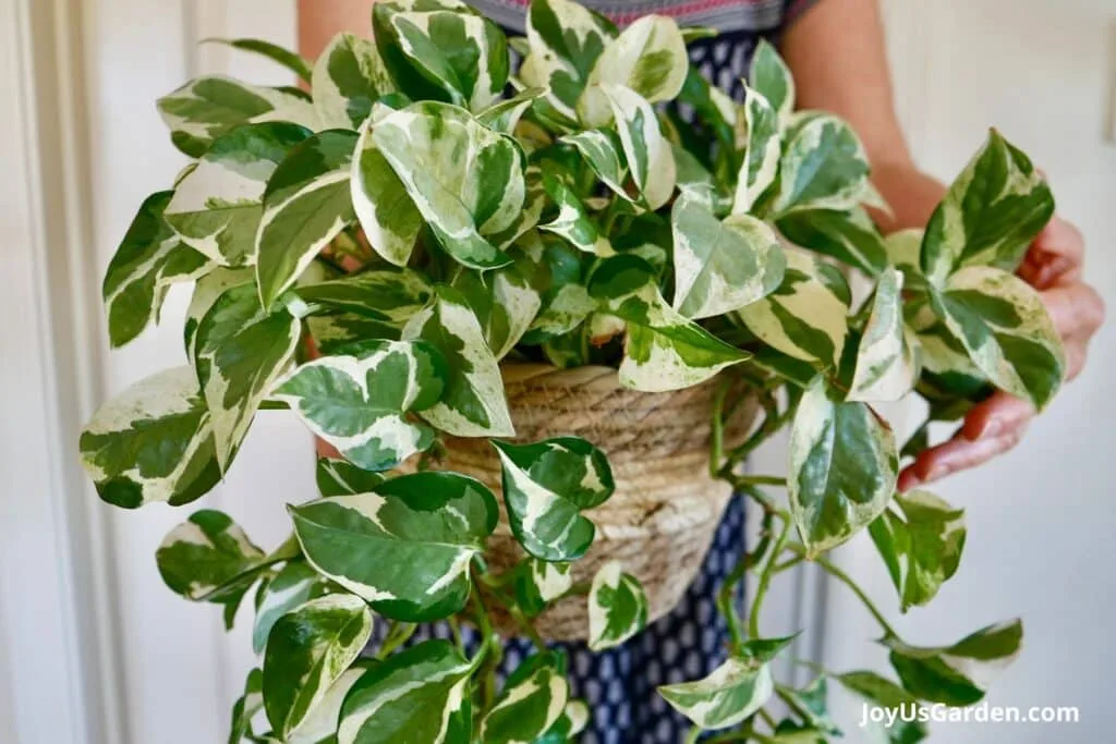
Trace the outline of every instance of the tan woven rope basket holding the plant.
{"type": "MultiPolygon", "coordinates": [[[[608,367],[506,365],[502,371],[516,442],[580,436],[612,463],[616,491],[586,512],[597,534],[574,563],[574,580],[589,581],[605,562],[618,560],[647,592],[648,621],[671,611],[701,568],[731,495],[728,484],[709,476],[710,419],[720,379],[674,393],[638,393],[620,387],[608,367]]],[[[734,385],[730,400],[747,395],[742,383],[734,385]]],[[[725,426],[727,446],[743,441],[756,412],[754,405],[735,409],[725,426]]],[[[500,491],[500,461],[485,439],[449,437],[442,466],[500,491]]],[[[485,558],[499,573],[522,557],[501,514],[485,558]]],[[[496,620],[501,632],[514,632],[510,619],[496,620]]],[[[585,639],[585,597],[552,605],[535,627],[548,640],[585,639]]]]}

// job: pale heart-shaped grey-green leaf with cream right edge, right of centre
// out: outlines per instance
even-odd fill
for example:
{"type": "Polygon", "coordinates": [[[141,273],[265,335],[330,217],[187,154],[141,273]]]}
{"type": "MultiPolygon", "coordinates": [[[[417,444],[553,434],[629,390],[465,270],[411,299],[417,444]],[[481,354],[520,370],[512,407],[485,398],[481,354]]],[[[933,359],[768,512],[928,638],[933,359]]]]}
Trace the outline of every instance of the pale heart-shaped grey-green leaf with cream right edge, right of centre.
{"type": "Polygon", "coordinates": [[[786,259],[779,238],[748,214],[718,220],[691,192],[671,211],[674,234],[674,309],[686,318],[738,310],[773,292],[786,259]]]}

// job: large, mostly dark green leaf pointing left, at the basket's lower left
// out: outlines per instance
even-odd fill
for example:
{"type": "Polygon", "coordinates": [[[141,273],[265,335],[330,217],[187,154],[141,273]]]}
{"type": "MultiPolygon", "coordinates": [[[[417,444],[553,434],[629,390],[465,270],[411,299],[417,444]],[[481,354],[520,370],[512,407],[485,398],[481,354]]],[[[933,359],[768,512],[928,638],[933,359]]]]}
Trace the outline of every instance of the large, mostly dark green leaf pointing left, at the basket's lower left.
{"type": "Polygon", "coordinates": [[[496,497],[473,479],[421,472],[376,491],[289,506],[306,559],[384,617],[424,622],[461,611],[469,564],[496,529],[496,497]]]}

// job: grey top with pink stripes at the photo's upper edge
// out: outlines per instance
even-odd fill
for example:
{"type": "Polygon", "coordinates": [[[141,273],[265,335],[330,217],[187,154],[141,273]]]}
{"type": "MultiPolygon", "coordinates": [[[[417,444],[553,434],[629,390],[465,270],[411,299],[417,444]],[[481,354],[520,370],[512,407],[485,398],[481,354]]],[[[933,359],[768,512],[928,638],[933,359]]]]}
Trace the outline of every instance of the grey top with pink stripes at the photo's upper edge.
{"type": "MultiPolygon", "coordinates": [[[[530,0],[466,0],[490,19],[522,32],[530,0]]],[[[679,26],[709,26],[721,32],[775,35],[816,0],[581,0],[586,8],[626,26],[643,16],[668,16],[679,26]]]]}

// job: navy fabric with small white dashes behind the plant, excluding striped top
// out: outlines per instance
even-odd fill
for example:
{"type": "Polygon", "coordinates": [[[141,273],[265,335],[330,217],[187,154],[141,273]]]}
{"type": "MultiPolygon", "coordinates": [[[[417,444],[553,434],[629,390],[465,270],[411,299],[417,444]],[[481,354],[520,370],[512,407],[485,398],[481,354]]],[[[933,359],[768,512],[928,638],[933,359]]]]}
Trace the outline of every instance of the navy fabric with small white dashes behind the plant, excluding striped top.
{"type": "MultiPolygon", "coordinates": [[[[778,41],[780,31],[814,0],[783,0],[783,15],[775,26],[733,30],[690,46],[691,61],[714,85],[740,100],[740,83],[761,38],[778,41]]],[[[655,688],[699,679],[720,666],[728,655],[729,635],[715,600],[724,577],[744,553],[743,499],[733,497],[698,578],[679,606],[626,644],[591,653],[584,644],[556,644],[569,659],[575,697],[585,699],[591,719],[579,741],[584,744],[681,744],[690,722],[671,708],[655,688]]],[[[743,597],[737,598],[738,603],[743,597]]],[[[385,624],[386,625],[386,624],[385,624]]],[[[383,629],[385,625],[378,626],[383,629]]],[[[477,642],[462,629],[471,649],[477,642]]],[[[445,624],[423,626],[411,644],[451,638],[445,624]]],[[[501,676],[512,671],[532,653],[531,641],[514,639],[507,647],[501,676]]]]}

